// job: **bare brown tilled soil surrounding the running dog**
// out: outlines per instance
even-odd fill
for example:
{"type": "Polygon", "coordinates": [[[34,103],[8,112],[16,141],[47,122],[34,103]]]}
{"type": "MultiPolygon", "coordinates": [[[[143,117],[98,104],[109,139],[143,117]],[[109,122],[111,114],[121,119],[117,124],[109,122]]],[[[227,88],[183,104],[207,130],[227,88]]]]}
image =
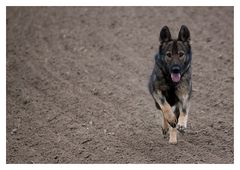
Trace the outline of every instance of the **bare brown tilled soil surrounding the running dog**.
{"type": "Polygon", "coordinates": [[[233,7],[8,7],[7,163],[233,163],[233,7]],[[189,27],[188,131],[147,83],[160,28],[189,27]]]}

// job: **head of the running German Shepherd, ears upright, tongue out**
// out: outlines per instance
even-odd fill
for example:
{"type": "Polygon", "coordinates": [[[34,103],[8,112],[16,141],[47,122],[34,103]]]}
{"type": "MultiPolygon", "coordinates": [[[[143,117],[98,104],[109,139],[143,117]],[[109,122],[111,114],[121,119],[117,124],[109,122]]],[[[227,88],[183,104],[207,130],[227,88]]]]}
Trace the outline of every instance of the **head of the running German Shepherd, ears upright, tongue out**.
{"type": "Polygon", "coordinates": [[[169,28],[164,26],[159,41],[159,58],[156,62],[174,83],[178,83],[191,64],[190,32],[182,25],[178,38],[172,39],[169,28]]]}

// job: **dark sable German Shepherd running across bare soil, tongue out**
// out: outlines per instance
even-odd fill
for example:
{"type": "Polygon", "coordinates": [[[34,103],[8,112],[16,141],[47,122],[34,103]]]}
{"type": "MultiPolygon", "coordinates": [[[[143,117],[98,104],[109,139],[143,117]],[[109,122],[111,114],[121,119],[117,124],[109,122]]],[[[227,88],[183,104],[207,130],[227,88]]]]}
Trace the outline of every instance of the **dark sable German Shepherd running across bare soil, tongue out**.
{"type": "Polygon", "coordinates": [[[159,52],[149,81],[149,91],[163,114],[162,133],[169,143],[177,143],[177,130],[185,132],[192,93],[190,32],[182,25],[178,38],[172,39],[169,28],[160,32],[159,52]]]}

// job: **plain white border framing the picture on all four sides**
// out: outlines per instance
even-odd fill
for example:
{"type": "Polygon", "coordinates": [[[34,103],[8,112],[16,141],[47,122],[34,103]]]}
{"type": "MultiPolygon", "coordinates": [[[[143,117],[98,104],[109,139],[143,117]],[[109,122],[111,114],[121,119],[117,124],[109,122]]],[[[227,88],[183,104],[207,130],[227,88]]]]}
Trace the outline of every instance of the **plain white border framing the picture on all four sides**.
{"type": "Polygon", "coordinates": [[[224,168],[224,169],[236,169],[240,165],[240,157],[239,157],[239,146],[240,143],[240,135],[239,135],[239,123],[237,120],[240,120],[240,109],[239,103],[239,90],[240,87],[240,76],[237,73],[240,72],[240,48],[234,48],[234,164],[201,164],[201,165],[193,165],[193,164],[135,164],[135,165],[14,165],[14,164],[6,164],[6,7],[7,6],[234,6],[234,47],[239,46],[240,34],[239,34],[239,25],[240,25],[240,5],[237,4],[237,0],[141,0],[141,1],[129,1],[129,0],[121,0],[121,1],[111,1],[111,0],[3,0],[4,2],[0,2],[0,45],[1,45],[1,57],[0,57],[0,89],[1,89],[1,119],[0,119],[0,161],[1,168],[3,169],[132,169],[132,168],[143,168],[143,169],[157,169],[160,168],[174,168],[174,169],[205,169],[205,168],[224,168]]]}

